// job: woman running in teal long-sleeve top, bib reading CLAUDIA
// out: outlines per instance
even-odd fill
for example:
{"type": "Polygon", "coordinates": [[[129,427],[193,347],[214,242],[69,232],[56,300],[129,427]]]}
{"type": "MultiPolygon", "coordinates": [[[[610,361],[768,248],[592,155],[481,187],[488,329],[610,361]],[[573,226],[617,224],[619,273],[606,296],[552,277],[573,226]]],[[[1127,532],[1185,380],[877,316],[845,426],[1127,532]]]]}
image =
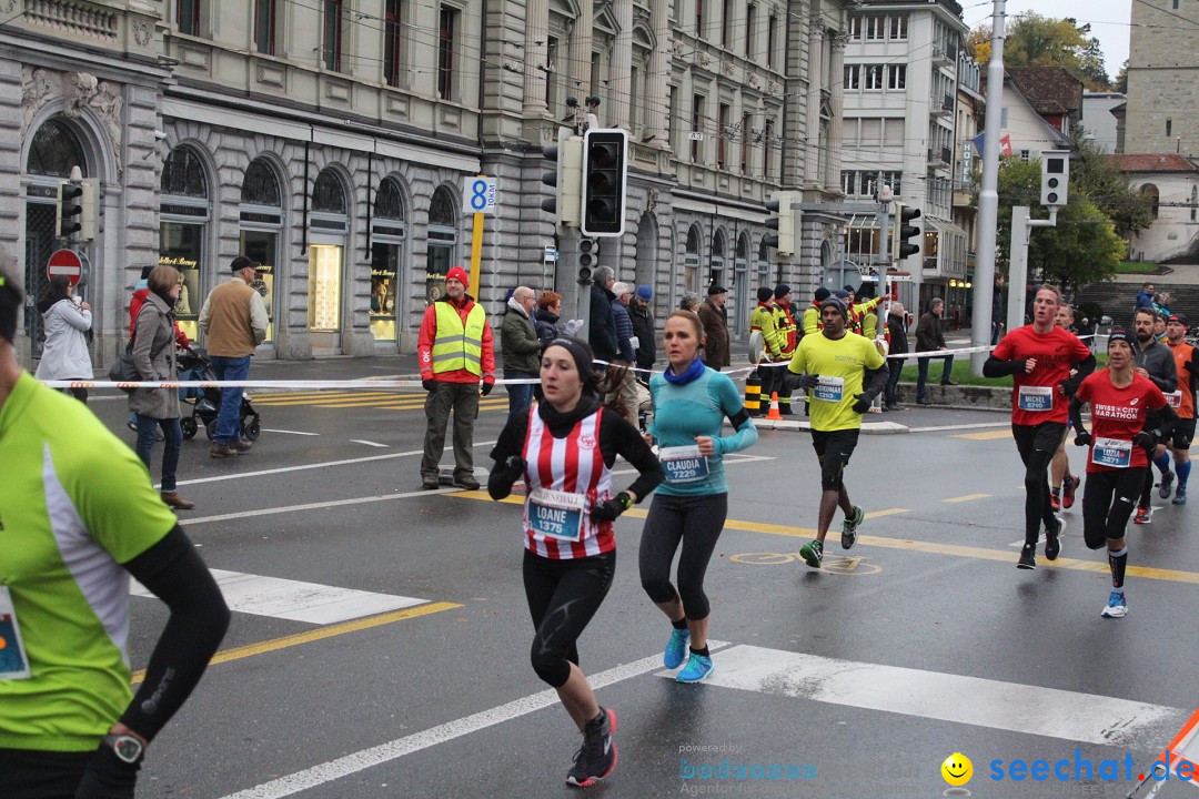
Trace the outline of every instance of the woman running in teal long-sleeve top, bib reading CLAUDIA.
{"type": "Polygon", "coordinates": [[[699,316],[689,310],[670,314],[663,341],[670,365],[650,379],[650,435],[658,444],[667,482],[653,495],[641,533],[641,587],[674,627],[663,664],[667,668],[681,666],[689,641],[687,665],[675,679],[699,683],[713,668],[707,648],[710,607],[704,574],[729,512],[723,456],[752,447],[758,430],[728,375],[699,361],[704,343],[699,316]],[[734,428],[728,436],[721,435],[724,417],[734,428]],[[680,544],[675,589],[670,563],[680,544]]]}

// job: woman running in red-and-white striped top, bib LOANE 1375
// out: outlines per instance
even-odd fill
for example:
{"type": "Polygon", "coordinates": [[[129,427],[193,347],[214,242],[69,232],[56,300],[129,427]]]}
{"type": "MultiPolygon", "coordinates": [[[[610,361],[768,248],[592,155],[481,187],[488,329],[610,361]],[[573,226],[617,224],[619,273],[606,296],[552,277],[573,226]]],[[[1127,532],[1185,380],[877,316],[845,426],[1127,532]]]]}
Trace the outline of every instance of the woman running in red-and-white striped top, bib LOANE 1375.
{"type": "Polygon", "coordinates": [[[605,389],[591,362],[591,350],[582,341],[550,341],[541,361],[544,401],[508,418],[492,450],[495,466],[487,480],[493,500],[507,497],[522,478],[528,489],[523,574],[537,630],[530,656],[534,671],[558,690],[583,733],[566,776],[577,787],[607,777],[616,767],[616,714],[596,702],[579,668],[576,642],[611,586],[613,522],[663,479],[661,464],[637,429],[619,411],[601,406],[605,389]],[[616,455],[639,474],[613,495],[616,455]]]}

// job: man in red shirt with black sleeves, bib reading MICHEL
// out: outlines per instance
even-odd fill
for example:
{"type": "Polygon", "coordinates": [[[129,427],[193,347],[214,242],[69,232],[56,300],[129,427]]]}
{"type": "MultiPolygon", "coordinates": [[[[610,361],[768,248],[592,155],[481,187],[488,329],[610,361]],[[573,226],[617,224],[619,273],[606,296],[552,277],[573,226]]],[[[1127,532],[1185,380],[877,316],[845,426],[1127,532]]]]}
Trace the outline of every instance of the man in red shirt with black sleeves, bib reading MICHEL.
{"type": "Polygon", "coordinates": [[[1024,547],[1016,564],[1037,568],[1041,523],[1046,526],[1046,558],[1061,551],[1062,521],[1049,503],[1049,461],[1066,434],[1067,398],[1095,370],[1095,356],[1073,333],[1056,327],[1061,292],[1043,285],[1032,301],[1032,323],[1018,327],[987,358],[986,377],[1014,376],[1012,436],[1024,461],[1024,547]],[[1071,369],[1077,374],[1071,377],[1071,369]]]}

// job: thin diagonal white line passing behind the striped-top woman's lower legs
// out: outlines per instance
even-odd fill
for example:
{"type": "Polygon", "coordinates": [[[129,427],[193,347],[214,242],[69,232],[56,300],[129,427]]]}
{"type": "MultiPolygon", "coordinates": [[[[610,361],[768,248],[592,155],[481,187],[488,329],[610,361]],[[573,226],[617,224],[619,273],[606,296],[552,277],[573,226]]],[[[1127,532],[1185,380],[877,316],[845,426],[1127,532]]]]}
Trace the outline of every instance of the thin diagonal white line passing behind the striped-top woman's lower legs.
{"type": "MultiPolygon", "coordinates": [[[[719,647],[728,646],[728,643],[709,640],[707,646],[711,649],[717,649],[719,647]]],[[[661,667],[662,653],[659,652],[650,655],[649,658],[641,658],[640,660],[634,660],[633,662],[623,664],[621,666],[616,666],[615,668],[609,668],[608,671],[590,674],[588,680],[591,683],[592,688],[601,689],[633,677],[646,674],[655,668],[661,667]]],[[[231,793],[224,797],[224,799],[282,799],[283,797],[290,797],[300,793],[301,791],[315,788],[319,785],[332,782],[333,780],[338,780],[351,774],[357,774],[359,771],[379,765],[380,763],[387,763],[388,761],[400,758],[404,755],[411,755],[412,752],[418,752],[422,749],[436,746],[438,744],[445,744],[454,740],[456,738],[462,738],[463,736],[469,736],[472,732],[494,727],[498,724],[528,715],[535,710],[541,710],[558,703],[558,691],[553,689],[540,691],[537,694],[508,702],[507,704],[492,708],[490,710],[483,710],[454,721],[448,721],[405,738],[397,738],[396,740],[387,742],[386,744],[372,746],[370,749],[363,749],[362,751],[353,752],[345,757],[339,757],[335,761],[329,761],[327,763],[321,763],[302,771],[296,771],[295,774],[271,780],[270,782],[264,782],[253,788],[231,793]]]]}

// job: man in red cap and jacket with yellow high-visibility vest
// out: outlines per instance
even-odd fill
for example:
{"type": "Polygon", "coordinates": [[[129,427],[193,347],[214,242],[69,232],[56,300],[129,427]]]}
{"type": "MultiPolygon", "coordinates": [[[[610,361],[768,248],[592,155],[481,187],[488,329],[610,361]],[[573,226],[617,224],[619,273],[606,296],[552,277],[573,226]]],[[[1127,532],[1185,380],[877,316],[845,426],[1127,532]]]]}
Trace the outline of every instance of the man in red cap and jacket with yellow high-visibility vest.
{"type": "Polygon", "coordinates": [[[446,273],[446,292],[426,309],[416,341],[421,383],[429,393],[424,399],[429,424],[421,459],[421,485],[426,489],[439,485],[438,464],[453,410],[453,482],[460,488],[478,490],[475,417],[478,416],[480,393],[487,397],[495,387],[495,351],[487,313],[466,293],[468,283],[470,279],[460,266],[446,273]]]}

